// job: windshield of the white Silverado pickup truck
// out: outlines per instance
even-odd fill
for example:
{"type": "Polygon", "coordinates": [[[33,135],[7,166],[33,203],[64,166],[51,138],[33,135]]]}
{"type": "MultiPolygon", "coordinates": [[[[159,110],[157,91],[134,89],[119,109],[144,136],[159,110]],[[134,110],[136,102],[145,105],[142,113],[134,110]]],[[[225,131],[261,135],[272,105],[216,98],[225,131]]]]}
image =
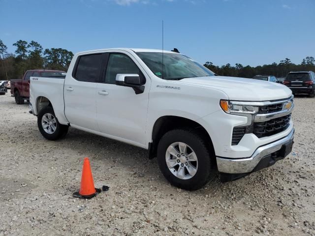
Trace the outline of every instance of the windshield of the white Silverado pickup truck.
{"type": "Polygon", "coordinates": [[[162,53],[155,52],[137,53],[137,55],[156,76],[164,80],[215,75],[203,65],[181,54],[164,53],[163,58],[162,53]]]}

